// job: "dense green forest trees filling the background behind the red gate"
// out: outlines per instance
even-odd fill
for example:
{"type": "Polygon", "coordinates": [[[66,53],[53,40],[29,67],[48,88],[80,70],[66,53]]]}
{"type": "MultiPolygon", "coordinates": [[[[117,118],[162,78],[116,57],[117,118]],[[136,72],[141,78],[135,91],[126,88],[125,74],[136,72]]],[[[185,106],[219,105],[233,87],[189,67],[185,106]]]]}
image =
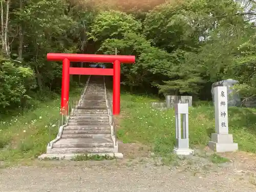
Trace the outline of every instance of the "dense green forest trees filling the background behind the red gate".
{"type": "MultiPolygon", "coordinates": [[[[203,97],[211,83],[233,78],[243,97],[256,95],[256,31],[249,21],[256,5],[243,2],[249,11],[232,0],[132,1],[129,6],[29,0],[21,7],[12,1],[0,109],[29,108],[60,92],[62,64],[47,61],[49,52],[115,54],[117,49],[135,55],[136,63],[121,65],[122,84],[130,91],[203,97]]],[[[75,79],[71,76],[72,86],[75,79]]]]}

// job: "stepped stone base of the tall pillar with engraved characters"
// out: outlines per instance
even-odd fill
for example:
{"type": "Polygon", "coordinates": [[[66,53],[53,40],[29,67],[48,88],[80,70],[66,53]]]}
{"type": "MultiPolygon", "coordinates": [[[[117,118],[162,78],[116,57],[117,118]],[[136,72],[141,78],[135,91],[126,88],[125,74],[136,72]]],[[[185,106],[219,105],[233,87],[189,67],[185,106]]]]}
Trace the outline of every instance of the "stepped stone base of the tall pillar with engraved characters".
{"type": "Polygon", "coordinates": [[[238,150],[238,143],[233,143],[232,134],[211,134],[209,148],[214,152],[234,152],[238,150]]]}

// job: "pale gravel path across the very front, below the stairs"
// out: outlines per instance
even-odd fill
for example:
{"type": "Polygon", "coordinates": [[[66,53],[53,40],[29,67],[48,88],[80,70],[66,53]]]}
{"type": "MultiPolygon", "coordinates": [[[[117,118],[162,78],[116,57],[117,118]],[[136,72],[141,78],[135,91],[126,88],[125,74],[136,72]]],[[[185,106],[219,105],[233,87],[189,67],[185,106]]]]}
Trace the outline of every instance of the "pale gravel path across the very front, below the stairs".
{"type": "MultiPolygon", "coordinates": [[[[254,192],[256,186],[239,172],[225,171],[195,174],[191,170],[115,163],[56,162],[0,169],[1,192],[34,191],[234,191],[254,192]]],[[[225,168],[221,168],[225,169],[225,168]]]]}

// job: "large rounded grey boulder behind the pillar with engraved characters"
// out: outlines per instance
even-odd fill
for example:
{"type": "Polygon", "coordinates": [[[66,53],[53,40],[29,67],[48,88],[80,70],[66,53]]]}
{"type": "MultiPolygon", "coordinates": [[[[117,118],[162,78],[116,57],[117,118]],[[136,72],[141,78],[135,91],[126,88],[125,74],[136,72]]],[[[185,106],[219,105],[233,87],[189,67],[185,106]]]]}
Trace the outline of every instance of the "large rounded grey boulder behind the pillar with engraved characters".
{"type": "Polygon", "coordinates": [[[215,92],[214,88],[216,87],[226,87],[227,88],[227,104],[228,106],[241,106],[241,97],[239,94],[232,90],[234,84],[239,83],[239,81],[234,79],[226,79],[219,82],[212,83],[211,85],[211,96],[212,101],[215,101],[215,92]]]}

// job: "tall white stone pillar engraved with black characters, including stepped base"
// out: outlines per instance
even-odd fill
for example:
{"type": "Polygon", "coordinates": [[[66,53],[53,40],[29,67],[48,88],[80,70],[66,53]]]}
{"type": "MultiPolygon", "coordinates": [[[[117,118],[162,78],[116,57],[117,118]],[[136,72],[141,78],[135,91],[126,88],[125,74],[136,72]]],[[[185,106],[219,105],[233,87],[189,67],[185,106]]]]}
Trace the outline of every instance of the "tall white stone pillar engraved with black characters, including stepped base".
{"type": "Polygon", "coordinates": [[[214,88],[215,132],[211,134],[209,148],[215,152],[233,152],[238,144],[233,143],[232,134],[228,134],[227,87],[214,88]]]}

